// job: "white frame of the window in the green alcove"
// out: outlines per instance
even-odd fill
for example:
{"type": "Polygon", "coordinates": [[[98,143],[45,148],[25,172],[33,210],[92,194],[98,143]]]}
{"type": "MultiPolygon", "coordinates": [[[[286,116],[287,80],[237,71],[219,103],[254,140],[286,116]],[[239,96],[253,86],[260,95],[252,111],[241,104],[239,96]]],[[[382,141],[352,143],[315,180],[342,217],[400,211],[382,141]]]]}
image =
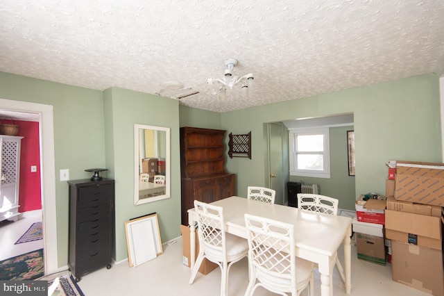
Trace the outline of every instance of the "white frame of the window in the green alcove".
{"type": "Polygon", "coordinates": [[[328,127],[311,127],[289,129],[289,167],[291,176],[310,176],[330,179],[330,129],[328,127]],[[298,170],[298,151],[296,151],[296,138],[298,135],[320,135],[324,137],[323,170],[298,170]]]}

